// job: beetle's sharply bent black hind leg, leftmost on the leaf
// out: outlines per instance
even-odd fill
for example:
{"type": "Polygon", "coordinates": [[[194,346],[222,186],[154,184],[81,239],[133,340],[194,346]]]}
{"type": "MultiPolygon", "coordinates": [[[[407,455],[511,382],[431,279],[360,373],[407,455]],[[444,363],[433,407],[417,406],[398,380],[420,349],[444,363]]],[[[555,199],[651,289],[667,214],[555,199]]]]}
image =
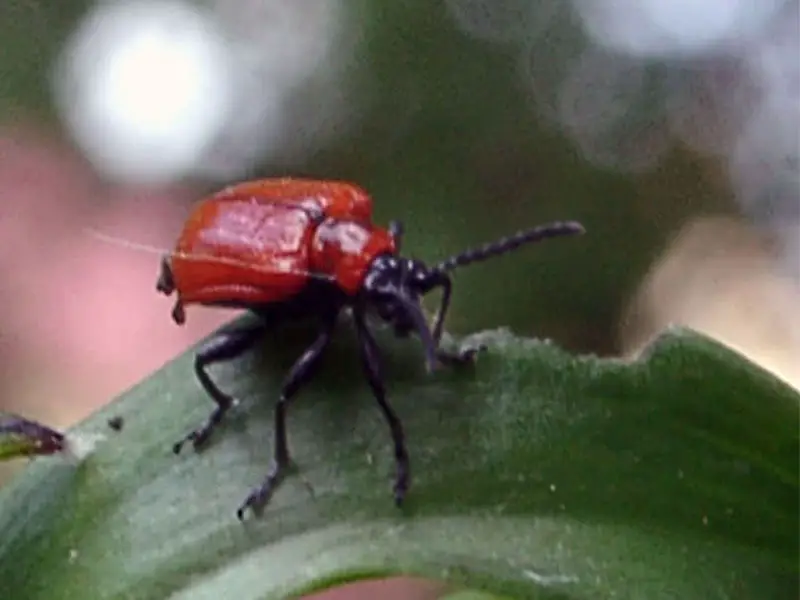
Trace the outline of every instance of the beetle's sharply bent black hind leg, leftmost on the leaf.
{"type": "Polygon", "coordinates": [[[214,363],[231,360],[244,353],[253,346],[263,331],[263,323],[253,323],[252,325],[240,329],[222,331],[207,341],[197,351],[194,358],[194,370],[197,374],[197,379],[200,380],[203,389],[205,389],[208,395],[217,403],[217,408],[214,409],[201,427],[192,431],[172,447],[175,454],[181,451],[181,448],[186,442],[192,442],[196,449],[203,446],[208,441],[214,429],[217,428],[217,425],[220,424],[225,413],[227,413],[235,403],[231,396],[222,392],[217,385],[211,381],[206,368],[214,363]]]}

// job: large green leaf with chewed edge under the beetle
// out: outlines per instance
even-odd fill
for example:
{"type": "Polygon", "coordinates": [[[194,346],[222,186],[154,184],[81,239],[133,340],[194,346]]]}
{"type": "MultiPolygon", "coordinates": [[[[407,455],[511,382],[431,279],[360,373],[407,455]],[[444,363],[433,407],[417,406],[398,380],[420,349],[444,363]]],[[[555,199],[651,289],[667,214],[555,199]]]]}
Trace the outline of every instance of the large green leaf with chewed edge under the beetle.
{"type": "Polygon", "coordinates": [[[171,452],[210,409],[187,354],[71,432],[108,432],[80,466],[37,461],[0,492],[0,597],[282,598],[397,573],[515,598],[798,597],[800,398],[733,351],[676,330],[626,363],[495,331],[469,340],[489,346],[474,369],[426,376],[415,342],[381,336],[412,458],[398,510],[341,329],[290,409],[299,476],[260,518],[234,511],[304,328],[215,370],[243,402],[206,451],[171,452]]]}

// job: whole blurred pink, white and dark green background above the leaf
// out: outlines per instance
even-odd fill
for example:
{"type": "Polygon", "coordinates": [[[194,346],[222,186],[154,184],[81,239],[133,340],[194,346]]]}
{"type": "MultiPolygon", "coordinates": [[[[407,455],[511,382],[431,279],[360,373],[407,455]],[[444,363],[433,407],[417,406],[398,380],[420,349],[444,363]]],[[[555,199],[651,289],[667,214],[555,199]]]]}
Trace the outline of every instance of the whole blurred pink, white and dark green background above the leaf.
{"type": "MultiPolygon", "coordinates": [[[[796,0],[0,3],[0,409],[66,426],[227,321],[155,291],[193,202],[353,180],[458,273],[456,334],[635,355],[671,323],[800,386],[796,0]]],[[[153,399],[155,402],[158,399],[153,399]]]]}

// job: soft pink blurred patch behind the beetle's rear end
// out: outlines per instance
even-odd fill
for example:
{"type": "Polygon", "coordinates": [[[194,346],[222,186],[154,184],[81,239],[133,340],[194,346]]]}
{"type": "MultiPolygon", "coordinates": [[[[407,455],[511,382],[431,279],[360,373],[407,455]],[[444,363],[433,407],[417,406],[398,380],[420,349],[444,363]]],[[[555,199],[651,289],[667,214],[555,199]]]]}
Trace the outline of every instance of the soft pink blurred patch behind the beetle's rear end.
{"type": "Polygon", "coordinates": [[[0,194],[0,408],[69,424],[231,318],[197,309],[176,326],[158,255],[87,231],[167,248],[188,186],[106,184],[66,143],[17,127],[0,132],[0,194]]]}

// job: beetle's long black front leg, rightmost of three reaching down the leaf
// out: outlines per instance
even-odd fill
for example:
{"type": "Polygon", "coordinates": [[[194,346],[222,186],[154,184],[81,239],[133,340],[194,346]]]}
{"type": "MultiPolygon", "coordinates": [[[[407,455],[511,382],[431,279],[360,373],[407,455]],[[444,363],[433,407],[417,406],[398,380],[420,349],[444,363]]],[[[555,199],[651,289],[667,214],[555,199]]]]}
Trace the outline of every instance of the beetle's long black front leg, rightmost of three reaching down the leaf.
{"type": "Polygon", "coordinates": [[[362,309],[353,311],[355,319],[356,332],[358,333],[359,346],[361,348],[361,360],[364,365],[364,371],[367,377],[367,383],[372,388],[372,393],[381,407],[383,416],[389,424],[389,430],[392,434],[392,443],[394,444],[394,459],[396,465],[395,479],[394,479],[394,501],[397,506],[403,503],[406,492],[408,491],[410,466],[408,460],[408,451],[406,450],[405,434],[403,433],[403,424],[400,422],[394,409],[386,399],[386,388],[383,383],[383,374],[381,373],[381,361],[378,351],[378,344],[375,338],[372,337],[367,328],[364,320],[364,313],[362,309]]]}

